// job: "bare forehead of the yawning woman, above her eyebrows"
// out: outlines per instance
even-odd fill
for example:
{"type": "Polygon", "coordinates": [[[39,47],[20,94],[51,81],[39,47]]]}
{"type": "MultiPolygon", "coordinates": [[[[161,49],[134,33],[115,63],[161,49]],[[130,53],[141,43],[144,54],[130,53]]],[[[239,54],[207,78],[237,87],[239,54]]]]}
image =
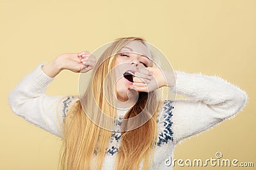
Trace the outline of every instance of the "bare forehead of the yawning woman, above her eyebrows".
{"type": "Polygon", "coordinates": [[[134,52],[140,53],[141,55],[146,55],[148,58],[151,58],[150,52],[141,41],[133,40],[123,48],[121,48],[120,52],[134,52]]]}

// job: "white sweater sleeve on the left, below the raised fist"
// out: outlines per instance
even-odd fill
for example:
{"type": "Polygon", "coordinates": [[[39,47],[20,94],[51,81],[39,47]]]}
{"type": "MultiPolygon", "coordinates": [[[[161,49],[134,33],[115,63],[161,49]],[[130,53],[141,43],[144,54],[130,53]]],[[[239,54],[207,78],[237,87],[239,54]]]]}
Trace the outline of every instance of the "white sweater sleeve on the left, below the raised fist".
{"type": "Polygon", "coordinates": [[[42,70],[45,62],[27,74],[10,92],[8,102],[13,113],[52,134],[62,137],[61,125],[76,96],[47,96],[45,90],[54,78],[42,70]]]}

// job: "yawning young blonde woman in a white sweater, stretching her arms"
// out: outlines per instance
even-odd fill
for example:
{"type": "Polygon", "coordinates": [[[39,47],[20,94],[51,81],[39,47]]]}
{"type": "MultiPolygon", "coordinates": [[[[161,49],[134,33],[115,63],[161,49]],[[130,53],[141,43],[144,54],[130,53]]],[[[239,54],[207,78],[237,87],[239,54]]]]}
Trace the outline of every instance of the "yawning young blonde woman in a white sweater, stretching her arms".
{"type": "Polygon", "coordinates": [[[128,37],[97,62],[81,52],[39,64],[8,99],[14,113],[60,136],[61,169],[172,169],[165,160],[177,143],[233,117],[248,96],[218,76],[160,69],[145,40],[128,37]],[[45,94],[63,69],[93,69],[83,96],[45,94]],[[161,87],[188,99],[162,101],[161,87]]]}

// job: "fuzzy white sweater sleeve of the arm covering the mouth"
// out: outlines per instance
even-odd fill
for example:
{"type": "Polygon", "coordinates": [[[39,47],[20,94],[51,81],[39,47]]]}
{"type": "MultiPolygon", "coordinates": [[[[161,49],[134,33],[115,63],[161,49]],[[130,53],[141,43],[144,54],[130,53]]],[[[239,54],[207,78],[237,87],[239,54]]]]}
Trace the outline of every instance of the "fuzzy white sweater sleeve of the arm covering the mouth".
{"type": "Polygon", "coordinates": [[[234,117],[248,101],[244,90],[218,76],[175,73],[176,83],[172,92],[188,97],[164,102],[164,113],[167,113],[164,125],[169,125],[167,129],[163,127],[168,133],[165,138],[175,143],[234,117]]]}

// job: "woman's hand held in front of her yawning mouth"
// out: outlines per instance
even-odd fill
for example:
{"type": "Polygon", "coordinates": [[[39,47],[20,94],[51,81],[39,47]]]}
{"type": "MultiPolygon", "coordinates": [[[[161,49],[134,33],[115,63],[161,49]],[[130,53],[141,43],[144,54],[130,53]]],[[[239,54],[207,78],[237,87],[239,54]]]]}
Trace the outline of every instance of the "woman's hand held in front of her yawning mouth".
{"type": "Polygon", "coordinates": [[[159,67],[144,67],[140,68],[139,72],[134,73],[134,82],[131,87],[138,92],[152,92],[164,86],[172,87],[174,85],[173,79],[175,80],[173,72],[165,71],[159,67]]]}

